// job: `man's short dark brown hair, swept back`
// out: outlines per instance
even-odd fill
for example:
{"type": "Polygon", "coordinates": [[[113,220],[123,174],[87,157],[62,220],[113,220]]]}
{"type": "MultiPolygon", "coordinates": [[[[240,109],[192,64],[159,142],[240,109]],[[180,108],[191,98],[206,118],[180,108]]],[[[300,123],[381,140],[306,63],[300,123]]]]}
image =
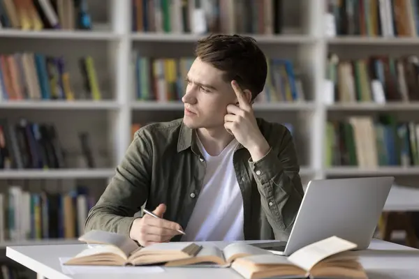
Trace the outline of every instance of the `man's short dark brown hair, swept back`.
{"type": "Polygon", "coordinates": [[[249,89],[252,100],[263,91],[267,75],[266,57],[254,38],[212,34],[198,40],[194,54],[224,71],[226,82],[237,80],[242,89],[249,89]]]}

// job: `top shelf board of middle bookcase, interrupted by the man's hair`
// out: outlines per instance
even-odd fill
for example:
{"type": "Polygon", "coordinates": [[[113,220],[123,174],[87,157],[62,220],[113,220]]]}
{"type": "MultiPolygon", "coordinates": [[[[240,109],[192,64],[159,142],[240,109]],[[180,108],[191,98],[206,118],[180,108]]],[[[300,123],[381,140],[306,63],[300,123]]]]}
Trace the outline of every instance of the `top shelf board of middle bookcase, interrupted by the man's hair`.
{"type": "MultiPolygon", "coordinates": [[[[241,34],[243,36],[251,36],[255,38],[258,43],[267,44],[309,44],[315,43],[316,38],[304,35],[255,35],[255,34],[241,34]]],[[[206,35],[188,34],[188,33],[131,33],[131,39],[134,42],[173,42],[173,43],[195,43],[196,40],[206,35]]]]}

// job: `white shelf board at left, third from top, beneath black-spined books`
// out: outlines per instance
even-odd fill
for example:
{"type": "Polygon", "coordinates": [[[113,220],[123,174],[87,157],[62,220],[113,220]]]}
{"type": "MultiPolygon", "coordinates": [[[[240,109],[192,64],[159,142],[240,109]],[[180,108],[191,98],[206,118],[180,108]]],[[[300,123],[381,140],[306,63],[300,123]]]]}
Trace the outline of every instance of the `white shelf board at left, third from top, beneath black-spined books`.
{"type": "Polygon", "coordinates": [[[115,169],[4,169],[0,179],[108,179],[115,169]]]}

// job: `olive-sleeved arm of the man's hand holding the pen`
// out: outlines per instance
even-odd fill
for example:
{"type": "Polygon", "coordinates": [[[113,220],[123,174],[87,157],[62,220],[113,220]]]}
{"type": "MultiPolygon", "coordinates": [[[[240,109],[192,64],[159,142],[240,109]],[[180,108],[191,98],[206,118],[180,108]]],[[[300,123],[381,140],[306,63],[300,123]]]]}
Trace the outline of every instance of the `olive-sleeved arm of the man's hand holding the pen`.
{"type": "Polygon", "coordinates": [[[116,168],[97,204],[89,211],[85,231],[101,229],[129,236],[135,213],[140,211],[149,191],[152,152],[144,130],[135,133],[133,142],[116,168]]]}

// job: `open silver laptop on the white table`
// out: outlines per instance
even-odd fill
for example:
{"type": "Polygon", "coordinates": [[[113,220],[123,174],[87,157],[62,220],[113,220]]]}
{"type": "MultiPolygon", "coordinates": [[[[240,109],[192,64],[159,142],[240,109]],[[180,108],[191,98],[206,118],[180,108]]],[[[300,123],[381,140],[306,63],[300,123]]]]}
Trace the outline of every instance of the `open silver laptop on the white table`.
{"type": "Polygon", "coordinates": [[[254,246],[289,256],[311,243],[339,236],[369,246],[393,176],[310,181],[287,242],[255,243],[254,246]]]}

